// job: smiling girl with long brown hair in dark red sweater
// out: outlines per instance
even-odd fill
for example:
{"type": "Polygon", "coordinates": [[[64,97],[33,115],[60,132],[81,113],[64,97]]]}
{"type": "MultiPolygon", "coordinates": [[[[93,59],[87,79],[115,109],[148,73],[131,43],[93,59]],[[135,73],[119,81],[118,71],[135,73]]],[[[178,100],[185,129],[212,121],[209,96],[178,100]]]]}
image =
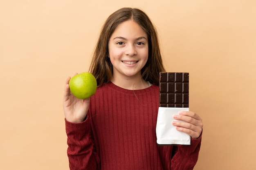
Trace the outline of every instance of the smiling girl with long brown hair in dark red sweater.
{"type": "Polygon", "coordinates": [[[157,33],[139,9],[122,8],[103,25],[90,72],[97,92],[75,98],[65,82],[63,108],[71,170],[192,170],[200,150],[202,120],[176,115],[191,145],[159,146],[156,122],[159,72],[164,72],[157,33]]]}

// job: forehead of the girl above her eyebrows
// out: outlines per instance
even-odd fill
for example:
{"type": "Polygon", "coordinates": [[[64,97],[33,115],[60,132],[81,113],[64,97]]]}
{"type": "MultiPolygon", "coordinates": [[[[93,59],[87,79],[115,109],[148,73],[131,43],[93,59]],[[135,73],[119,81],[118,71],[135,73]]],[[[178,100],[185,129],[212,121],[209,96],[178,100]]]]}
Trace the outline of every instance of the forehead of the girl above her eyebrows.
{"type": "Polygon", "coordinates": [[[145,31],[141,28],[137,22],[133,20],[128,20],[122,22],[117,26],[115,31],[111,35],[111,39],[114,37],[125,37],[125,38],[133,38],[133,37],[147,37],[145,31]]]}

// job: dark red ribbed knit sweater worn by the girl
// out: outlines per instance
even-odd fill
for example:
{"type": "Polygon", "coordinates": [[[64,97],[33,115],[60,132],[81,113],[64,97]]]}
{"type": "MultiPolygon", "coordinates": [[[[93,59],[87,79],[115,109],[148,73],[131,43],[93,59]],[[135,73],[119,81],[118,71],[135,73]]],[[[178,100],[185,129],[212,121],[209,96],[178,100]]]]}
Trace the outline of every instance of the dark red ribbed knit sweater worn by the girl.
{"type": "MultiPolygon", "coordinates": [[[[201,136],[189,146],[159,146],[159,86],[127,90],[108,83],[91,97],[87,118],[66,122],[71,170],[192,170],[201,136]]],[[[170,122],[171,123],[171,122],[170,122]]]]}

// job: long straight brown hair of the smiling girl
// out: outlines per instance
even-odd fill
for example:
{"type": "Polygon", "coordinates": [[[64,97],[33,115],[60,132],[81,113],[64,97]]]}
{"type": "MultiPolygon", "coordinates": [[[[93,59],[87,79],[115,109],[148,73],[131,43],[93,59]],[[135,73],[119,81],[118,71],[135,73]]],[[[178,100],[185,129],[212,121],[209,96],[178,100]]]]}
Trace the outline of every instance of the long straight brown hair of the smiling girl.
{"type": "Polygon", "coordinates": [[[148,36],[148,61],[141,69],[141,76],[145,81],[159,85],[159,72],[165,72],[165,69],[157,31],[148,15],[136,8],[121,8],[108,17],[101,29],[89,70],[95,76],[98,86],[111,81],[112,63],[108,57],[108,42],[117,26],[127,20],[139,24],[148,36]]]}

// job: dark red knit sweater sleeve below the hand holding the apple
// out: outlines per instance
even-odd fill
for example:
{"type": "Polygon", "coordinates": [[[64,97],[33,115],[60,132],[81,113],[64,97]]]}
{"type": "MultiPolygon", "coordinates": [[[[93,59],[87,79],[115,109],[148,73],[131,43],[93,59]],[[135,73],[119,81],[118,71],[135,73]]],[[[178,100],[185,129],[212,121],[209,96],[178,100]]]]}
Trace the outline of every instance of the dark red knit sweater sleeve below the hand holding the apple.
{"type": "Polygon", "coordinates": [[[98,170],[99,156],[94,147],[89,118],[81,123],[65,119],[65,125],[70,170],[98,170]]]}

